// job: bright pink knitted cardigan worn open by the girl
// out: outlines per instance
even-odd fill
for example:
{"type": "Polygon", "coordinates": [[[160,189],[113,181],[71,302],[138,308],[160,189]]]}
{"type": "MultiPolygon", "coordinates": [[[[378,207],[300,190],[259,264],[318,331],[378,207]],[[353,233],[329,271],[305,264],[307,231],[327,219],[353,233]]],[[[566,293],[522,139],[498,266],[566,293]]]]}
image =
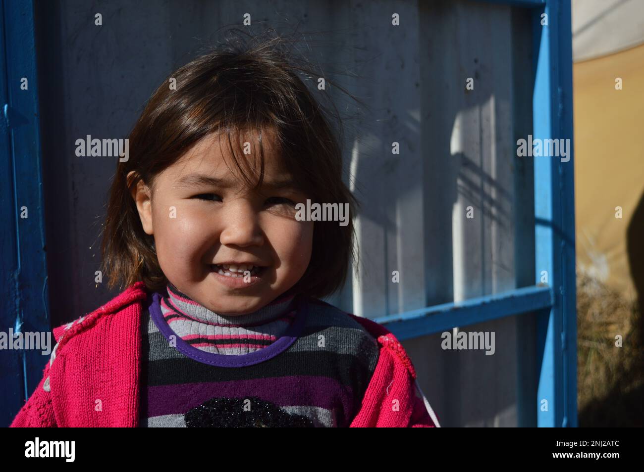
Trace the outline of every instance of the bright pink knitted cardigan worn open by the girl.
{"type": "MultiPolygon", "coordinates": [[[[57,345],[43,379],[12,427],[138,426],[143,282],[93,313],[53,329],[57,345]]],[[[412,361],[382,325],[351,314],[381,348],[361,409],[359,427],[433,427],[436,420],[416,388],[412,361]],[[431,416],[430,416],[431,412],[431,416]]]]}

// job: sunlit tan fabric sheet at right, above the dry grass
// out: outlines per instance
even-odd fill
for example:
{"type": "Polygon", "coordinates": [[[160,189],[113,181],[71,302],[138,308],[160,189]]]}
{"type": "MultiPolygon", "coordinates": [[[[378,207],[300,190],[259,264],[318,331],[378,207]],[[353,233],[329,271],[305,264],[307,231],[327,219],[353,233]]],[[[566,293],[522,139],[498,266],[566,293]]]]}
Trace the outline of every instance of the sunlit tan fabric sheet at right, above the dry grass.
{"type": "MultiPolygon", "coordinates": [[[[644,193],[644,46],[574,64],[573,84],[578,266],[635,295],[627,229],[644,193]]],[[[638,217],[635,226],[643,224],[638,217]]],[[[644,260],[636,259],[641,271],[644,260]]]]}

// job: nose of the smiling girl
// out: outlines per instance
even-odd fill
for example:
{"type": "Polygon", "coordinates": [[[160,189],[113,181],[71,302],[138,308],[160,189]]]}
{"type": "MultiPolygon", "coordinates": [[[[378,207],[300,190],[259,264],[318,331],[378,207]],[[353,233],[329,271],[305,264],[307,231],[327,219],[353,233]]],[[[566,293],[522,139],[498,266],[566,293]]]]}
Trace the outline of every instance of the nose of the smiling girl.
{"type": "Polygon", "coordinates": [[[238,199],[229,206],[224,215],[223,231],[220,242],[226,246],[261,246],[264,242],[263,233],[258,221],[258,214],[251,203],[238,199]]]}

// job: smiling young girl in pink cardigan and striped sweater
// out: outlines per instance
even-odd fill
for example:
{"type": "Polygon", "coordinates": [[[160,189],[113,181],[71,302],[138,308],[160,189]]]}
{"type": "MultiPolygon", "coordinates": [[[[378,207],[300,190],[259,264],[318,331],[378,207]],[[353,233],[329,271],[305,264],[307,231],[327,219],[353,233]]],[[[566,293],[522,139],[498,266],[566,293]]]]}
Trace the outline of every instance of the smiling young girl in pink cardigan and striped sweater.
{"type": "Polygon", "coordinates": [[[299,71],[269,42],[158,87],[104,225],[127,289],[53,330],[12,426],[437,426],[395,337],[319,300],[345,280],[355,201],[299,71]],[[303,219],[307,201],[349,224],[303,219]]]}

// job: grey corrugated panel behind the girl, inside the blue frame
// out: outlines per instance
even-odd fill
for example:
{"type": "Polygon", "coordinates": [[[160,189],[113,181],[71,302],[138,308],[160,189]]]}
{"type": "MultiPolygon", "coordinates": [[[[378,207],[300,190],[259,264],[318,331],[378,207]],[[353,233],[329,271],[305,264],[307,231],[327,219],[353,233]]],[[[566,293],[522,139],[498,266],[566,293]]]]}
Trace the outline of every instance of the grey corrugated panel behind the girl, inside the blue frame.
{"type": "MultiPolygon", "coordinates": [[[[346,168],[363,205],[361,267],[330,302],[377,317],[533,284],[531,168],[513,159],[515,136],[531,129],[531,30],[520,11],[456,0],[41,2],[55,324],[115,295],[96,287],[94,272],[116,163],[77,158],[75,140],[124,138],[160,80],[245,13],[278,30],[300,23],[300,31],[325,32],[311,42],[311,59],[370,107],[346,122],[346,168]],[[96,13],[103,26],[94,25],[96,13]],[[394,13],[400,26],[392,26],[394,13]],[[466,90],[468,77],[474,90],[466,90]]],[[[533,318],[461,329],[495,331],[495,355],[442,350],[440,334],[404,342],[442,424],[534,424],[532,403],[524,404],[536,392],[533,318]]]]}

